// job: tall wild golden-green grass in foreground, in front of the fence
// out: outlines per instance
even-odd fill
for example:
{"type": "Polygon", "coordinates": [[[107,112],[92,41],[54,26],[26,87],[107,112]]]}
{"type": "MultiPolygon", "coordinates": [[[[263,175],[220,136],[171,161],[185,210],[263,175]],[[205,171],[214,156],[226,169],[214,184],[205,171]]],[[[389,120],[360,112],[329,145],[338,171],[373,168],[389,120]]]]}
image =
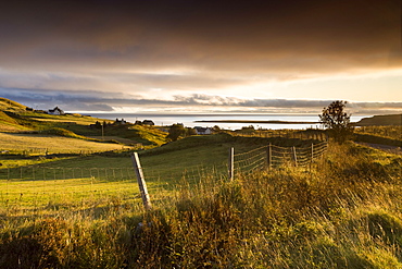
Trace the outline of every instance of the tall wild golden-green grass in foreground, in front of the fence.
{"type": "Polygon", "coordinates": [[[306,169],[183,179],[149,212],[115,197],[3,218],[0,267],[401,268],[401,161],[331,145],[306,169]]]}

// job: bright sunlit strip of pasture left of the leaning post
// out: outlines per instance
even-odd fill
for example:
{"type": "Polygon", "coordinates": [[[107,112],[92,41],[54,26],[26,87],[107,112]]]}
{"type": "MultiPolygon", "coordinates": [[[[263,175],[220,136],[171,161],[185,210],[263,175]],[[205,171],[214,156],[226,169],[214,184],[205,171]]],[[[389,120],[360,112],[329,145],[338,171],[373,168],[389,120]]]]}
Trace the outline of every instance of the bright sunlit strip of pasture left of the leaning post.
{"type": "MultiPolygon", "coordinates": [[[[150,183],[152,189],[156,185],[150,183]]],[[[88,203],[101,205],[103,200],[120,198],[136,200],[139,198],[137,180],[97,180],[96,178],[67,180],[0,181],[0,208],[8,211],[13,208],[20,215],[34,210],[70,210],[88,206],[88,203]],[[52,206],[52,207],[51,207],[52,206]]],[[[103,205],[105,206],[105,205],[103,205]]]]}

